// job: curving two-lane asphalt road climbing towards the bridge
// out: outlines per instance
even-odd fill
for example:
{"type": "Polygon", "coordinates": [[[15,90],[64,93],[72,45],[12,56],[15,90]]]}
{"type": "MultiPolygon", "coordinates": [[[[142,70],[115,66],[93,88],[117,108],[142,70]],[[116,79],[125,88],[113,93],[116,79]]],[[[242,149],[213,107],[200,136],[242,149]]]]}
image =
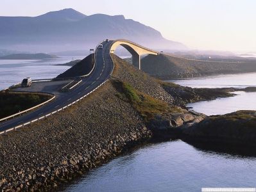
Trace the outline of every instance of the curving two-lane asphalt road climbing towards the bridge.
{"type": "Polygon", "coordinates": [[[63,108],[75,100],[80,99],[80,97],[91,92],[98,87],[99,84],[106,81],[110,77],[113,68],[113,63],[109,53],[109,47],[112,42],[103,42],[102,44],[103,49],[96,50],[96,65],[92,74],[90,74],[89,77],[84,78],[82,83],[71,90],[71,92],[67,92],[60,97],[56,97],[53,102],[49,102],[45,106],[35,109],[34,111],[26,113],[22,116],[7,120],[6,122],[1,122],[0,131],[30,122],[31,120],[34,120],[40,116],[47,115],[48,113],[56,111],[57,109],[63,108]]]}

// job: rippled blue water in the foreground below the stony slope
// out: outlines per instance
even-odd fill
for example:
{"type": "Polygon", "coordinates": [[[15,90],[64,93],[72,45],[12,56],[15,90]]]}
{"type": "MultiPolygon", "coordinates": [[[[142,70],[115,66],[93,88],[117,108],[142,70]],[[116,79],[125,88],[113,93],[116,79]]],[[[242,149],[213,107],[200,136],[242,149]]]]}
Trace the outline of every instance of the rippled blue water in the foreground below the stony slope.
{"type": "Polygon", "coordinates": [[[200,191],[252,187],[256,157],[201,150],[169,141],[135,150],[90,172],[66,191],[200,191]]]}

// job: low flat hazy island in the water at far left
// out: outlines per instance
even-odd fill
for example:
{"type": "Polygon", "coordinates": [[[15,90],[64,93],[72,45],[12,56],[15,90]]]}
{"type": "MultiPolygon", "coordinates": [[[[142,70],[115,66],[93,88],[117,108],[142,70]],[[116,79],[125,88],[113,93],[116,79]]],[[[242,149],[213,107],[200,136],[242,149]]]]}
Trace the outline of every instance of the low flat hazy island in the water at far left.
{"type": "Polygon", "coordinates": [[[56,55],[36,53],[36,54],[9,54],[7,56],[1,56],[0,60],[43,60],[43,59],[53,59],[58,58],[56,55]]]}

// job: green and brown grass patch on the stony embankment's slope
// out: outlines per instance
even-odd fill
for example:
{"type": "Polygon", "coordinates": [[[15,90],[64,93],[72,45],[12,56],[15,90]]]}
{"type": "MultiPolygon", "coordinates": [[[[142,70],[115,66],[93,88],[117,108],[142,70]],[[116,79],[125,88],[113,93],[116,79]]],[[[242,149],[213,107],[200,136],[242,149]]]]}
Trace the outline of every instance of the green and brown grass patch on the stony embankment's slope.
{"type": "Polygon", "coordinates": [[[130,102],[144,120],[148,121],[156,114],[164,115],[167,113],[181,113],[183,109],[176,106],[170,106],[162,100],[155,99],[149,95],[138,92],[128,83],[121,81],[112,81],[115,88],[119,92],[117,97],[130,102]]]}

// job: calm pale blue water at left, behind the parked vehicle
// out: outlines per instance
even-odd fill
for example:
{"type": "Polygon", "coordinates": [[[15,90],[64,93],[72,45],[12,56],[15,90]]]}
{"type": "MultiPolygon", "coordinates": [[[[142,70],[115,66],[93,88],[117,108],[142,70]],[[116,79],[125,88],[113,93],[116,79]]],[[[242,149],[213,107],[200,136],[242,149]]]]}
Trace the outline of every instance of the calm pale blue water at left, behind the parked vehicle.
{"type": "Polygon", "coordinates": [[[0,60],[0,90],[22,81],[24,77],[47,79],[58,76],[69,66],[57,66],[83,57],[62,57],[47,60],[0,60]]]}

